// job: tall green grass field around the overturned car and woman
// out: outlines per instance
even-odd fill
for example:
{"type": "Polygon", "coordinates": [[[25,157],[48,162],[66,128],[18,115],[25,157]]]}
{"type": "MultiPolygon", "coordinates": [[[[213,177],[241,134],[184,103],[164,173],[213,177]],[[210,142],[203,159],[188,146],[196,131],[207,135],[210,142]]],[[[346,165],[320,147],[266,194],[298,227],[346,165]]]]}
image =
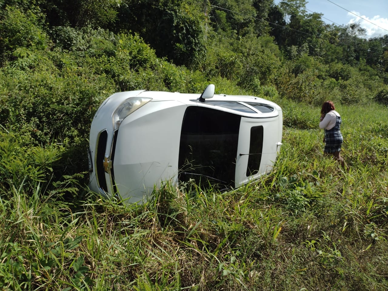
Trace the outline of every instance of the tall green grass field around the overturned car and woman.
{"type": "Polygon", "coordinates": [[[9,180],[1,290],[387,290],[387,107],[338,106],[341,168],[323,157],[320,108],[279,104],[274,170],[230,192],[166,183],[123,206],[75,176],[61,191],[9,180]]]}

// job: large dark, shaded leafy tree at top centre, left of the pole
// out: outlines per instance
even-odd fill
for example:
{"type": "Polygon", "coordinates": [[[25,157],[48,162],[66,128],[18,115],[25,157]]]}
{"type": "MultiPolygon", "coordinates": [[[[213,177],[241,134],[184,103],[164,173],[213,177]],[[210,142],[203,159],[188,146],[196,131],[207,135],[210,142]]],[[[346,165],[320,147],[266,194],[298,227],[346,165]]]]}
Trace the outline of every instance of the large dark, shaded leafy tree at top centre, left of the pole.
{"type": "Polygon", "coordinates": [[[116,31],[131,30],[177,65],[195,66],[204,53],[206,3],[178,0],[126,1],[116,31]]]}

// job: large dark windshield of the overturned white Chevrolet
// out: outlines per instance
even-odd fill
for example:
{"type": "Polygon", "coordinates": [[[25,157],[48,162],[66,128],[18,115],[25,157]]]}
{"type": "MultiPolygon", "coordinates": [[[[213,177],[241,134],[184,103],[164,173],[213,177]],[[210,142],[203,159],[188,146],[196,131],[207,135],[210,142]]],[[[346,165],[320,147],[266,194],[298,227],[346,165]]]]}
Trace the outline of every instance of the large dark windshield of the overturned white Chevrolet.
{"type": "Polygon", "coordinates": [[[234,187],[241,116],[217,109],[186,109],[179,147],[179,179],[234,187]]]}

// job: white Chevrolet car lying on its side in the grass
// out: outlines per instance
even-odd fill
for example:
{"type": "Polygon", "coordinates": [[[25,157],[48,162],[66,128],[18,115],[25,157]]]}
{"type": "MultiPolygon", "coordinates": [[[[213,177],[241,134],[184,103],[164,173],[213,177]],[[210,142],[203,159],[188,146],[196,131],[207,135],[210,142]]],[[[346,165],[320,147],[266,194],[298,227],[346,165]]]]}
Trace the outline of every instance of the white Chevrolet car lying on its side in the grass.
{"type": "Polygon", "coordinates": [[[214,89],[119,92],[102,102],[90,128],[90,190],[137,203],[167,180],[239,187],[270,171],[282,109],[214,89]]]}

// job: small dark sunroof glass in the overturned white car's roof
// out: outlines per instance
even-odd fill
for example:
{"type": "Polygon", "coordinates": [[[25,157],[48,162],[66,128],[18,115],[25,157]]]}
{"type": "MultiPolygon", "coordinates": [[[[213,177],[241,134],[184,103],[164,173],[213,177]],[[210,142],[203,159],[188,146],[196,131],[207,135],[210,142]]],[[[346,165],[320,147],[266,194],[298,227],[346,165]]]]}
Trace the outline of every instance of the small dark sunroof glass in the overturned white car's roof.
{"type": "Polygon", "coordinates": [[[249,142],[249,158],[246,168],[247,177],[259,171],[263,151],[263,126],[251,128],[251,140],[249,142]]]}

